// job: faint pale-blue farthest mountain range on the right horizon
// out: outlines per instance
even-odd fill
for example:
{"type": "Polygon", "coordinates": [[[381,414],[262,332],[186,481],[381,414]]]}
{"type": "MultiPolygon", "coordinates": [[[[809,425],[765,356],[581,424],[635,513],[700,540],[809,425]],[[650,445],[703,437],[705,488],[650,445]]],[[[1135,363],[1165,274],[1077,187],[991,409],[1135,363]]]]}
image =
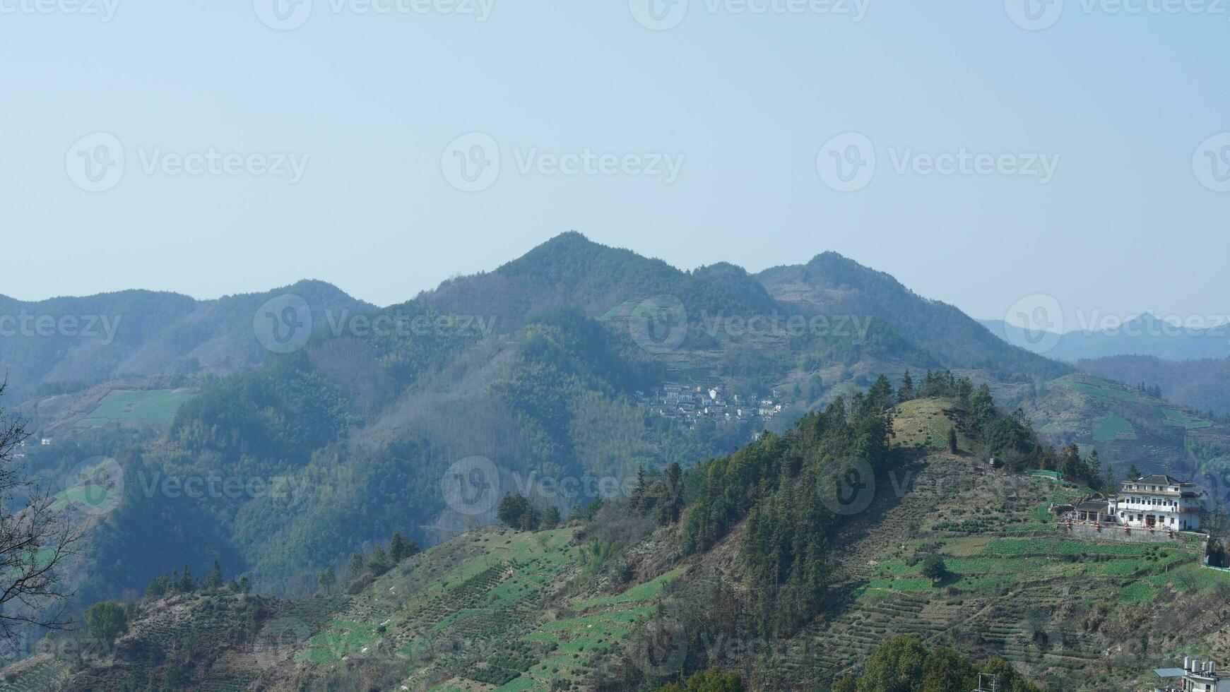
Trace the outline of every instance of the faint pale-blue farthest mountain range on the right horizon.
{"type": "Polygon", "coordinates": [[[1007,343],[1065,363],[1116,355],[1143,355],[1162,360],[1230,356],[1230,324],[1196,329],[1149,312],[1133,317],[1113,329],[1077,329],[1063,334],[1027,332],[1002,320],[980,322],[1007,343]]]}

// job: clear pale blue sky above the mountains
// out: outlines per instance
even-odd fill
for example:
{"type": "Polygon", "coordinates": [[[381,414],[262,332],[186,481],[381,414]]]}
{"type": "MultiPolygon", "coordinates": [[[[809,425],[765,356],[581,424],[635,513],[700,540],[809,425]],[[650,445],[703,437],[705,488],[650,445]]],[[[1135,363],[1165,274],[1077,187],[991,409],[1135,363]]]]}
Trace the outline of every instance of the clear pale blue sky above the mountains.
{"type": "Polygon", "coordinates": [[[0,0],[0,294],[314,278],[390,305],[577,230],[684,269],[831,250],[975,317],[1054,301],[1059,331],[1213,318],[1228,20],[1224,0],[0,0]]]}

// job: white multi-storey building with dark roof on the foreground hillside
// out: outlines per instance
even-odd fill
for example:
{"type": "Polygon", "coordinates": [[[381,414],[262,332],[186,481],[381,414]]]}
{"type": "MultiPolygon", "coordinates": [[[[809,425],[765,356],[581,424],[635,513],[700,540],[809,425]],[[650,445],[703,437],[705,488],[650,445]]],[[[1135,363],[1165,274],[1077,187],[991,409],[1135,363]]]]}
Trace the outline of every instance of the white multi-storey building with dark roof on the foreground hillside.
{"type": "Polygon", "coordinates": [[[1196,531],[1209,493],[1194,483],[1153,474],[1124,481],[1118,495],[1107,498],[1117,524],[1141,529],[1196,531]]]}

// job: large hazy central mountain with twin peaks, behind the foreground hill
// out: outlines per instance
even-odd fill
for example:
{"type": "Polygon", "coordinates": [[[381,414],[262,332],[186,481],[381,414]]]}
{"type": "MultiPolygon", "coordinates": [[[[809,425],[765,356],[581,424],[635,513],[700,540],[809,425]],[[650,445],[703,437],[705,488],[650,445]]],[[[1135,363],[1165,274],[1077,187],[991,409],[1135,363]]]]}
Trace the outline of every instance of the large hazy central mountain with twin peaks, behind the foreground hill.
{"type": "MultiPolygon", "coordinates": [[[[879,374],[957,370],[1027,401],[1069,371],[833,253],[755,277],[683,272],[565,234],[405,304],[317,315],[310,300],[317,328],[287,353],[253,337],[264,297],[197,307],[230,315],[209,323],[223,343],[256,342],[264,353],[235,363],[260,365],[27,402],[53,434],[26,462],[65,501],[82,468],[123,470],[86,513],[80,605],[215,558],[299,596],[392,531],[433,546],[494,521],[515,492],[567,514],[626,494],[641,468],[786,431],[879,374]],[[207,490],[175,490],[186,479],[207,490]]],[[[192,343],[181,350],[200,353],[192,343]]]]}

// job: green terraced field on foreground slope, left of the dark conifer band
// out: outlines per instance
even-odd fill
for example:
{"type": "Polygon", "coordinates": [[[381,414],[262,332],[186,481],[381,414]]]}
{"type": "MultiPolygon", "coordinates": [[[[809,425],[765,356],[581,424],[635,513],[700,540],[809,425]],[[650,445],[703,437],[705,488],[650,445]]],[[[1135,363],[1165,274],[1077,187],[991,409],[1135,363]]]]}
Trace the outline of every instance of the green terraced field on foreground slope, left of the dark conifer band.
{"type": "Polygon", "coordinates": [[[594,658],[649,616],[683,569],[568,595],[584,563],[574,533],[488,527],[437,546],[351,600],[295,658],[330,669],[392,653],[413,671],[406,690],[581,688],[594,658]]]}

